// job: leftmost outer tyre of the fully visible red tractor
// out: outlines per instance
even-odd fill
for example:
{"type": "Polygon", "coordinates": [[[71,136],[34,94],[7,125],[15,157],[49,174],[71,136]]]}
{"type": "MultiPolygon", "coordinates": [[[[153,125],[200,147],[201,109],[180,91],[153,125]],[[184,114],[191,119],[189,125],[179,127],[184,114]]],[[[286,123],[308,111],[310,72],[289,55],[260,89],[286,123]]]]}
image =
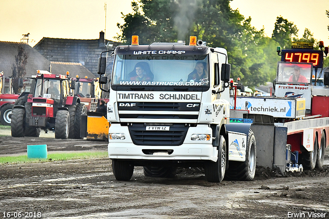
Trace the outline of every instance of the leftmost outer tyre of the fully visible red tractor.
{"type": "Polygon", "coordinates": [[[25,109],[13,108],[11,112],[11,136],[24,137],[25,133],[25,109]]]}

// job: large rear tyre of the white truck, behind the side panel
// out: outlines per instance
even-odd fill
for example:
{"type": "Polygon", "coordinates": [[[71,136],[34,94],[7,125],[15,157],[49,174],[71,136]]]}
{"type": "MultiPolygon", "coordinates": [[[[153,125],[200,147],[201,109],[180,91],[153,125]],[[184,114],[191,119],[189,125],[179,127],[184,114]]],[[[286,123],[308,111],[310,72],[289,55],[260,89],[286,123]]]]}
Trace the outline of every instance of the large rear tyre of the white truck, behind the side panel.
{"type": "Polygon", "coordinates": [[[244,162],[229,161],[227,178],[230,180],[253,180],[256,172],[256,139],[251,130],[248,133],[246,160],[244,162]]]}

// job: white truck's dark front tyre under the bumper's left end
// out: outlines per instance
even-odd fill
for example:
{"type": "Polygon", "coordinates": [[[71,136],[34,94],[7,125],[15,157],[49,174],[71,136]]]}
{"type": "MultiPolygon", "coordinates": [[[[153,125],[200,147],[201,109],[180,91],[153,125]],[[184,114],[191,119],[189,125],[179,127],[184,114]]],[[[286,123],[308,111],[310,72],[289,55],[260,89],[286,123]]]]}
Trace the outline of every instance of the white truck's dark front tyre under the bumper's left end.
{"type": "Polygon", "coordinates": [[[134,166],[126,160],[112,159],[112,169],[118,181],[129,181],[134,173],[134,166]]]}

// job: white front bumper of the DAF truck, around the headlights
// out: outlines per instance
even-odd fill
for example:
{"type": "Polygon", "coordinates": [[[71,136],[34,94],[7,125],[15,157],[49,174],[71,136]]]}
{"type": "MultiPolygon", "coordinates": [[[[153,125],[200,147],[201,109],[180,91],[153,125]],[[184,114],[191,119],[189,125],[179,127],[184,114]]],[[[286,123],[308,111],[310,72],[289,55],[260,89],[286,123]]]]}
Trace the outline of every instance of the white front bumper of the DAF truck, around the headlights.
{"type": "Polygon", "coordinates": [[[171,145],[136,145],[133,143],[127,126],[112,124],[109,133],[124,133],[124,140],[109,139],[108,157],[115,159],[138,160],[217,160],[217,148],[212,145],[212,137],[208,141],[193,141],[192,134],[211,134],[208,125],[189,127],[184,143],[171,145]]]}

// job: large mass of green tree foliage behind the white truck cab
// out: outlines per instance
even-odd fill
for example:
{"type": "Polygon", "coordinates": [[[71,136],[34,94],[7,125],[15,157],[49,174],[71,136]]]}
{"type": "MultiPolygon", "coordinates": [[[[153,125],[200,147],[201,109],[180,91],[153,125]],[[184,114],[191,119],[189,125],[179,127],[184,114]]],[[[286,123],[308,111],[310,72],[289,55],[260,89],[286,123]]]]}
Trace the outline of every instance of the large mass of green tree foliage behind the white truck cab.
{"type": "Polygon", "coordinates": [[[293,23],[278,17],[272,39],[268,38],[264,29],[251,26],[251,17],[230,8],[232,0],[136,1],[132,2],[133,13],[122,14],[124,24],[117,24],[122,32],[117,39],[130,43],[132,35],[139,35],[140,44],[150,44],[188,42],[195,35],[210,47],[225,48],[231,77],[240,77],[250,87],[275,79],[280,61],[276,47],[291,45],[298,32],[293,23]]]}

